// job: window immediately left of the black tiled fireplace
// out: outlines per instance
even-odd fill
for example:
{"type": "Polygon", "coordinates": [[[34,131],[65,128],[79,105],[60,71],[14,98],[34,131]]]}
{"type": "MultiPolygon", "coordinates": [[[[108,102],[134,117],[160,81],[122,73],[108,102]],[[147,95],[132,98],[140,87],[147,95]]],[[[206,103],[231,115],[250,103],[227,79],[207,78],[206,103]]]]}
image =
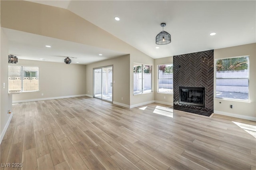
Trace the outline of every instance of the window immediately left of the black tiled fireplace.
{"type": "Polygon", "coordinates": [[[173,65],[158,65],[158,92],[173,93],[173,65]]]}

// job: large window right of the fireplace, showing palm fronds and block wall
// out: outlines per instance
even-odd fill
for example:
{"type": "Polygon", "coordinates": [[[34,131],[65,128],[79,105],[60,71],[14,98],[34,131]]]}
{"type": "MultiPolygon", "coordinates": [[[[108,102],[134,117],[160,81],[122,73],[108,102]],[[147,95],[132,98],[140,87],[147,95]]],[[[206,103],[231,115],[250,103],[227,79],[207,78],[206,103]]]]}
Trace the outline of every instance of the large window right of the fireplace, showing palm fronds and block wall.
{"type": "Polygon", "coordinates": [[[248,101],[249,56],[216,59],[216,98],[248,101]]]}

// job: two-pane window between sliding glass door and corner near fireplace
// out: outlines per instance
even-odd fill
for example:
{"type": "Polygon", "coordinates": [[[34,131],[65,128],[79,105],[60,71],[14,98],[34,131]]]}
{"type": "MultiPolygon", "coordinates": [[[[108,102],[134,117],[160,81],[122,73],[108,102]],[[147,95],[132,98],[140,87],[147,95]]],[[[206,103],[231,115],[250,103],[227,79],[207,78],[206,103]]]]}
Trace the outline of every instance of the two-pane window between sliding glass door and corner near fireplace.
{"type": "Polygon", "coordinates": [[[152,65],[134,63],[133,66],[133,94],[152,92],[152,65]]]}

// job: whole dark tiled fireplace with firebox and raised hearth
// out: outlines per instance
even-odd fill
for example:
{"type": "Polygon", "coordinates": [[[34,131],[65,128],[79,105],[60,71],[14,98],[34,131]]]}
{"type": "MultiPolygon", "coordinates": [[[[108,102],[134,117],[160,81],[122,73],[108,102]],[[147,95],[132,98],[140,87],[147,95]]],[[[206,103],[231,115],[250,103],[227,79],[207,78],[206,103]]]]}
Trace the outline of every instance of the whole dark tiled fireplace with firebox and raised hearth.
{"type": "Polygon", "coordinates": [[[174,109],[205,116],[213,113],[213,55],[209,50],[173,57],[174,109]]]}

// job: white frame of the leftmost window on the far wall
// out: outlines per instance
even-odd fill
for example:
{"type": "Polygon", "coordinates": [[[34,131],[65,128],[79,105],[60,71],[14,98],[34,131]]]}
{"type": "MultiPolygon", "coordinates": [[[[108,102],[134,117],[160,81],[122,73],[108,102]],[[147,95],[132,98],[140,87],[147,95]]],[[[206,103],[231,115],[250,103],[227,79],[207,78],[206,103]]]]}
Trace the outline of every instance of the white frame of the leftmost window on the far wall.
{"type": "Polygon", "coordinates": [[[38,66],[8,65],[8,93],[13,94],[13,93],[26,93],[26,92],[40,91],[40,83],[39,82],[40,82],[40,79],[39,79],[39,67],[38,66]],[[9,67],[21,67],[21,91],[10,92],[10,89],[9,89],[9,67]],[[25,72],[28,71],[28,70],[24,70],[23,67],[37,67],[38,68],[38,71],[30,70],[31,72],[36,72],[36,74],[38,75],[38,77],[37,77],[37,79],[38,79],[38,90],[32,90],[32,91],[24,91],[23,90],[23,80],[24,80],[24,78],[26,78],[25,72]]]}

